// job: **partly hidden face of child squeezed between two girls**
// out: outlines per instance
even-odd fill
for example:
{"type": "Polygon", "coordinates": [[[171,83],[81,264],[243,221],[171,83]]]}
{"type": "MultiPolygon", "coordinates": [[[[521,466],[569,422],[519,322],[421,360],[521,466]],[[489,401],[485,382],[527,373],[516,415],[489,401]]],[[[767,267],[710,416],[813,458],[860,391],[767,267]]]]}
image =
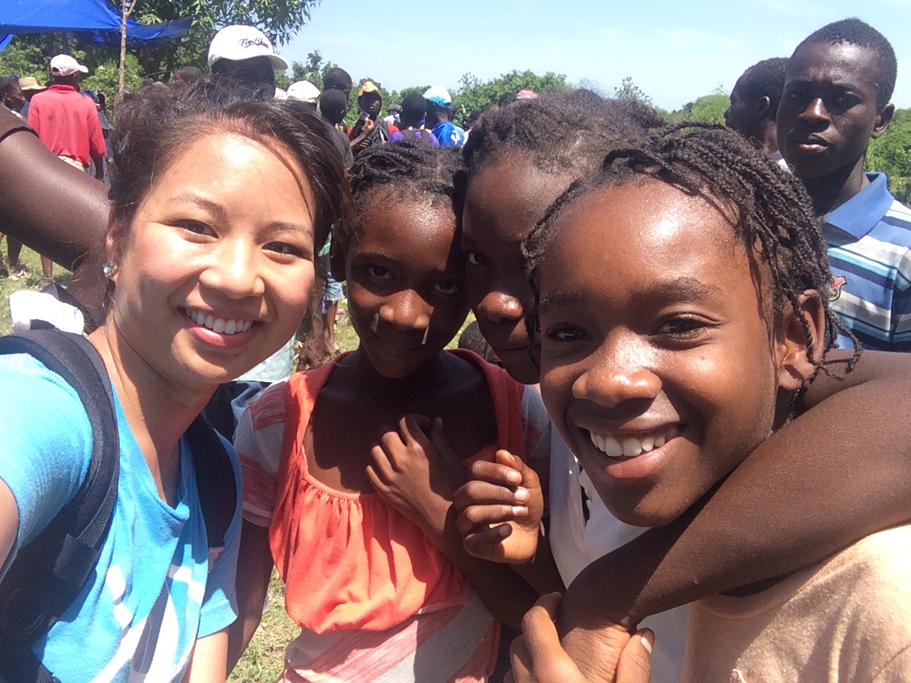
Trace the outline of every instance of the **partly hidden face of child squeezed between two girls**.
{"type": "Polygon", "coordinates": [[[535,384],[538,376],[525,324],[534,293],[522,240],[572,180],[515,153],[481,168],[468,185],[462,216],[468,301],[486,342],[517,382],[535,384]]]}

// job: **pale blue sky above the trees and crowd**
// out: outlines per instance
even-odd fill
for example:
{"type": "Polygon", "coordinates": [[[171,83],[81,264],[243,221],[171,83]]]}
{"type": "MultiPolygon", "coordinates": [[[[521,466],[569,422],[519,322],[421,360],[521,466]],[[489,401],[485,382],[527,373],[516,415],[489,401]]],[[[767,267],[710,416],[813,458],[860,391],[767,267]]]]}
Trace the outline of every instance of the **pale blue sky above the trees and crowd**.
{"type": "Polygon", "coordinates": [[[458,86],[518,69],[566,74],[607,95],[625,76],[659,107],[729,91],[747,66],[790,56],[815,29],[859,16],[898,57],[893,102],[911,107],[911,0],[464,0],[400,3],[322,0],[279,46],[289,63],[319,50],[355,79],[390,90],[458,86]]]}

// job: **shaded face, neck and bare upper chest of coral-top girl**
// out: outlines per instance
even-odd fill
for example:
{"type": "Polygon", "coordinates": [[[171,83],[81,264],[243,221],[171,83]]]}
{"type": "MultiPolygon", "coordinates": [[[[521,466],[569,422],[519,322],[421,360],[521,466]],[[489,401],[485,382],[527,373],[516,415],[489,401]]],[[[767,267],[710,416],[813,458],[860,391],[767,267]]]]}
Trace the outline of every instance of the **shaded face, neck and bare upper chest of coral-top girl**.
{"type": "Polygon", "coordinates": [[[403,199],[381,189],[363,215],[361,236],[345,254],[348,312],[360,345],[323,386],[305,445],[313,476],[350,493],[374,491],[365,472],[372,446],[403,415],[444,417],[463,458],[496,440],[484,375],[442,352],[468,312],[448,199],[403,199]]]}

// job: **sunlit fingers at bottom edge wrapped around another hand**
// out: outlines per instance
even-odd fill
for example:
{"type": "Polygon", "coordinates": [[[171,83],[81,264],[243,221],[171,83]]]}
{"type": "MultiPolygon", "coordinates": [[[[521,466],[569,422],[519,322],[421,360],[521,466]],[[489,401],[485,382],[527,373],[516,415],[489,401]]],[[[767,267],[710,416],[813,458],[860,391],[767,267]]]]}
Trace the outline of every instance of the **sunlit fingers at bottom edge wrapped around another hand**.
{"type": "MultiPolygon", "coordinates": [[[[558,593],[541,597],[522,619],[522,636],[509,648],[512,670],[506,683],[596,683],[584,678],[576,663],[560,646],[554,617],[560,604],[558,593]]],[[[620,644],[616,671],[605,683],[649,683],[651,648],[655,635],[648,629],[634,634],[618,628],[620,644]]]]}

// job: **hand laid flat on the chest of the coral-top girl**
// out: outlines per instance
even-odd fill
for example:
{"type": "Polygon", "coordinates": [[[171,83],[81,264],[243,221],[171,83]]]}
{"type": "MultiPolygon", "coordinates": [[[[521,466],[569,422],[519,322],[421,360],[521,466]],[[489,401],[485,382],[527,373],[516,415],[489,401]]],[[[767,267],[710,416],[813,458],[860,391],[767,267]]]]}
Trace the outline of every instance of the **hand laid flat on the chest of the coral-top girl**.
{"type": "Polygon", "coordinates": [[[465,481],[443,420],[406,415],[397,429],[384,428],[371,455],[367,476],[377,493],[431,537],[442,535],[453,494],[465,481]]]}

